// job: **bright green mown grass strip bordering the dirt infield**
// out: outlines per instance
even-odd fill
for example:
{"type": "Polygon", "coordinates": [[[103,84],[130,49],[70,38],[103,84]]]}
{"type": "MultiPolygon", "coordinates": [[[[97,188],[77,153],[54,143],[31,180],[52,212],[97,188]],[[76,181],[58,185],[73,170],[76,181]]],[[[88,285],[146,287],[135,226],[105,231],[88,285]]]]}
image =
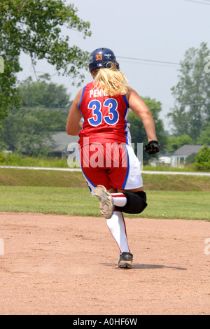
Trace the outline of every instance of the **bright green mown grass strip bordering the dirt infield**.
{"type": "MultiPolygon", "coordinates": [[[[146,193],[148,207],[141,217],[210,221],[209,192],[147,190],[146,193]]],[[[0,211],[101,216],[99,202],[88,188],[0,186],[0,194],[0,211]]]]}

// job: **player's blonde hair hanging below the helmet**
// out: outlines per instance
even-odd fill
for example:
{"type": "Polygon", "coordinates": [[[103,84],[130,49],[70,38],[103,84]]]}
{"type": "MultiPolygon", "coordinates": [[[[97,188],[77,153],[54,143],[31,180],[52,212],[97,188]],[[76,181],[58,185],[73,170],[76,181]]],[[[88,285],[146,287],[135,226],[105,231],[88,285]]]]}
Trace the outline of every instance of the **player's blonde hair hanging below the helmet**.
{"type": "Polygon", "coordinates": [[[95,87],[104,90],[109,96],[127,94],[127,78],[124,73],[120,72],[113,62],[107,64],[109,64],[109,67],[99,69],[96,76],[94,76],[95,87]]]}

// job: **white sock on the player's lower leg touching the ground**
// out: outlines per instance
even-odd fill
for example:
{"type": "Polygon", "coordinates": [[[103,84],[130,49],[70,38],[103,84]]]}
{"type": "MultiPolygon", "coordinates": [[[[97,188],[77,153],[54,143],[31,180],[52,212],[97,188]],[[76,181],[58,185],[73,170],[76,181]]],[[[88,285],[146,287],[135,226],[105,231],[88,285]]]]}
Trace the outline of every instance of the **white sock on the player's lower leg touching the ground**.
{"type": "Polygon", "coordinates": [[[111,235],[116,240],[120,253],[130,253],[130,248],[127,244],[127,235],[123,213],[121,211],[113,211],[111,218],[106,219],[106,224],[111,232],[111,235]]]}

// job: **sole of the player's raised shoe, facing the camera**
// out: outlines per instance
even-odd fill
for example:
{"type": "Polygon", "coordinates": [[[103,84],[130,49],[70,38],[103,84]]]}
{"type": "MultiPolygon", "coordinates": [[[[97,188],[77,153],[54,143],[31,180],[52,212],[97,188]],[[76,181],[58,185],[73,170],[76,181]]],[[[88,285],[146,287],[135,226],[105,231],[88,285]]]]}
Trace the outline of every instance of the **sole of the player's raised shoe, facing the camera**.
{"type": "Polygon", "coordinates": [[[111,218],[114,209],[113,198],[111,194],[102,185],[94,188],[94,194],[100,201],[99,209],[102,213],[102,216],[104,216],[106,219],[111,218]]]}

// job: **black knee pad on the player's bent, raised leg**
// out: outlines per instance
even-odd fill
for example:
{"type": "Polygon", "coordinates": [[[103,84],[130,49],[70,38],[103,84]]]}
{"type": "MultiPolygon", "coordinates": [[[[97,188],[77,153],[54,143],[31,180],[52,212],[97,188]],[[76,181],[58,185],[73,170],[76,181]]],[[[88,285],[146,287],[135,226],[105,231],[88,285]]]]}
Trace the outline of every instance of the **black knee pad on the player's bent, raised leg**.
{"type": "Polygon", "coordinates": [[[147,206],[146,193],[144,191],[139,192],[123,192],[127,198],[127,203],[124,207],[116,206],[116,209],[123,211],[126,214],[140,214],[147,206]]]}

